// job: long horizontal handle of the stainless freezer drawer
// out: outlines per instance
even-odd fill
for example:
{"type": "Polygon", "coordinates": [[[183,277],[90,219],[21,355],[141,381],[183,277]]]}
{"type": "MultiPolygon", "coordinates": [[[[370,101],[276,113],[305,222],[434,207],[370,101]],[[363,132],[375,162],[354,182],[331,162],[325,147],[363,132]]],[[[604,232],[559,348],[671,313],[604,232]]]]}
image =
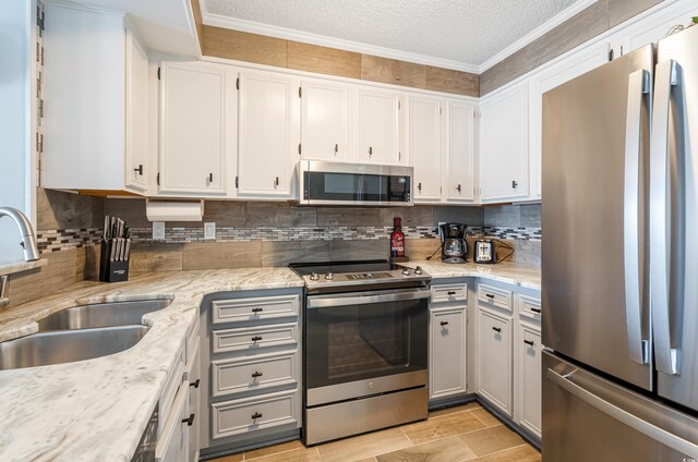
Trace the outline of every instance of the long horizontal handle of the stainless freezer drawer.
{"type": "Polygon", "coordinates": [[[628,427],[652,438],[655,441],[661,442],[662,445],[669,446],[670,448],[675,449],[678,452],[690,455],[691,458],[698,458],[698,445],[693,443],[691,441],[687,441],[684,438],[681,438],[677,435],[674,435],[670,431],[666,431],[663,428],[658,427],[618,406],[609,401],[599,398],[591,391],[580,387],[579,385],[574,382],[575,374],[579,370],[574,369],[573,372],[563,375],[559,375],[552,368],[549,368],[546,372],[547,378],[555,382],[561,388],[565,389],[567,392],[573,394],[576,398],[579,398],[587,404],[595,408],[597,410],[603,412],[604,414],[615,418],[618,422],[627,425],[628,427]]]}

